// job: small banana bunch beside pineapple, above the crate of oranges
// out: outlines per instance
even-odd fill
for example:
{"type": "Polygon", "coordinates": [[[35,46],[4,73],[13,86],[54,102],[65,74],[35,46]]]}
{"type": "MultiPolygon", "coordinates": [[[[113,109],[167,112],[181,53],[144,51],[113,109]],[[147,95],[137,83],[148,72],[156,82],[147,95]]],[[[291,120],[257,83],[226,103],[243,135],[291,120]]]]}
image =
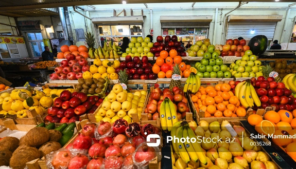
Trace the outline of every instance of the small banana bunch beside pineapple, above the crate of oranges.
{"type": "Polygon", "coordinates": [[[200,87],[200,78],[197,74],[190,73],[190,76],[187,78],[185,85],[184,85],[184,93],[191,92],[196,93],[200,87]]]}

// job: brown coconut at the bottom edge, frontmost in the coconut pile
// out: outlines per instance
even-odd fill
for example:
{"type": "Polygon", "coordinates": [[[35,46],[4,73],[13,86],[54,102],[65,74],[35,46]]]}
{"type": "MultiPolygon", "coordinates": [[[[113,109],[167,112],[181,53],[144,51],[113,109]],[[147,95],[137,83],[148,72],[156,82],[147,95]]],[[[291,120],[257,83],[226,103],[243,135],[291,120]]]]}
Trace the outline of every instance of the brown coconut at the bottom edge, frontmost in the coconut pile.
{"type": "Polygon", "coordinates": [[[9,164],[13,169],[24,169],[27,162],[38,158],[40,158],[39,150],[37,150],[35,147],[21,145],[12,153],[9,164]]]}

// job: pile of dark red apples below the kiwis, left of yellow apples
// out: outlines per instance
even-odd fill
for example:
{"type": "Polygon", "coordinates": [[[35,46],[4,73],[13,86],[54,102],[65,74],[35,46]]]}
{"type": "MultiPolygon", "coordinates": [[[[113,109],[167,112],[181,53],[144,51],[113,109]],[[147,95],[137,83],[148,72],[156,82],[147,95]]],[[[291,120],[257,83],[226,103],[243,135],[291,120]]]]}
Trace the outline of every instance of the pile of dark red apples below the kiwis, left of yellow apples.
{"type": "Polygon", "coordinates": [[[83,114],[94,113],[103,99],[98,96],[88,96],[83,92],[63,91],[60,97],[53,101],[53,106],[47,110],[45,122],[65,123],[80,121],[83,114]]]}

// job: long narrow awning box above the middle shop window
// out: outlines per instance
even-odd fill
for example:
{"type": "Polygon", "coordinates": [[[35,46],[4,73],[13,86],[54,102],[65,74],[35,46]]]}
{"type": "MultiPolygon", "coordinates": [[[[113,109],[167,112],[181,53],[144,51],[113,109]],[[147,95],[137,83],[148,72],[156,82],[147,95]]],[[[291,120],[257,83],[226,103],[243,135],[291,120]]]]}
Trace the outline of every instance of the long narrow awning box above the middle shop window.
{"type": "Polygon", "coordinates": [[[212,22],[212,15],[160,16],[161,23],[212,22]]]}

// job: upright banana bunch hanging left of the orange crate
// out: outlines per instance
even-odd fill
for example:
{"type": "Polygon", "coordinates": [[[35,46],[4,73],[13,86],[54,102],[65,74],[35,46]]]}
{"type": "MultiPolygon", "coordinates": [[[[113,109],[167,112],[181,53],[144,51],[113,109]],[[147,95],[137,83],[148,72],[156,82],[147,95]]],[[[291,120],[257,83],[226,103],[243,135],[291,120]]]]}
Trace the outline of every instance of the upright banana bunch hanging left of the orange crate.
{"type": "Polygon", "coordinates": [[[163,130],[171,131],[172,125],[178,122],[175,105],[169,98],[165,98],[160,105],[160,117],[163,130]]]}

